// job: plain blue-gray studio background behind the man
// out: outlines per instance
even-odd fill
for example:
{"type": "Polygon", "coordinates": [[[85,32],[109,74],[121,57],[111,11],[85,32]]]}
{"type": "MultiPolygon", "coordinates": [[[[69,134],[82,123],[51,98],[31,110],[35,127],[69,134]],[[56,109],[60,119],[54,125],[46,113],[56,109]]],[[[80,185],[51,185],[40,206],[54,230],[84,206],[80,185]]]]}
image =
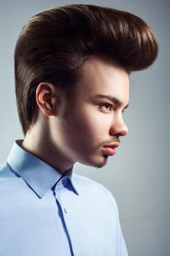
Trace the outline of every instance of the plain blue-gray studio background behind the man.
{"type": "Polygon", "coordinates": [[[129,134],[122,139],[117,155],[104,168],[76,164],[75,171],[104,184],[115,196],[129,255],[170,256],[169,0],[1,1],[0,161],[6,159],[13,141],[23,138],[13,75],[13,52],[20,29],[37,12],[78,3],[133,12],[158,36],[158,61],[151,69],[131,75],[131,101],[125,113],[129,134]]]}

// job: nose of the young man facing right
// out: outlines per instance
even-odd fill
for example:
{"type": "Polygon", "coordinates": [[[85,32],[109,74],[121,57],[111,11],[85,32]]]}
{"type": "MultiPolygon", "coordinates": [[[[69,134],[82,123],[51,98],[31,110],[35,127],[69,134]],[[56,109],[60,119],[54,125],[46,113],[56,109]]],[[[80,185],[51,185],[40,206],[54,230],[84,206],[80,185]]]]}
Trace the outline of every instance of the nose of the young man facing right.
{"type": "Polygon", "coordinates": [[[123,116],[117,117],[110,127],[110,135],[114,136],[125,136],[128,134],[128,127],[123,120],[123,116]]]}

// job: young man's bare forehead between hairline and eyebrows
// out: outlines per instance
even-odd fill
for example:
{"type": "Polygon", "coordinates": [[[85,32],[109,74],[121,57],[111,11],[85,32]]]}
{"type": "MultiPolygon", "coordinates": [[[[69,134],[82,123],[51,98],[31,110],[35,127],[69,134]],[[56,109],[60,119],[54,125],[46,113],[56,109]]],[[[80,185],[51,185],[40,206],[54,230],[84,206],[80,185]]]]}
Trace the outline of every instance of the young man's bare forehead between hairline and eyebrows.
{"type": "Polygon", "coordinates": [[[128,103],[128,72],[107,59],[91,58],[82,67],[82,75],[77,83],[77,97],[92,97],[104,94],[128,103]]]}

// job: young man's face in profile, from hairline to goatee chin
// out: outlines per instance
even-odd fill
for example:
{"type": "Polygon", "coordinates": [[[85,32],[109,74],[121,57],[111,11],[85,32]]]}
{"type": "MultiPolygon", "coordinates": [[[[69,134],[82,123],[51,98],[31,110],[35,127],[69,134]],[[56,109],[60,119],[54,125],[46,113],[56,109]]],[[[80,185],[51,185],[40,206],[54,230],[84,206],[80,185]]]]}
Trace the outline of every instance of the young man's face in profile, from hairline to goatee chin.
{"type": "Polygon", "coordinates": [[[128,132],[123,121],[129,100],[128,73],[94,58],[84,64],[83,70],[69,114],[55,116],[58,121],[53,131],[57,130],[56,143],[73,163],[102,167],[107,157],[115,154],[120,136],[128,132]]]}

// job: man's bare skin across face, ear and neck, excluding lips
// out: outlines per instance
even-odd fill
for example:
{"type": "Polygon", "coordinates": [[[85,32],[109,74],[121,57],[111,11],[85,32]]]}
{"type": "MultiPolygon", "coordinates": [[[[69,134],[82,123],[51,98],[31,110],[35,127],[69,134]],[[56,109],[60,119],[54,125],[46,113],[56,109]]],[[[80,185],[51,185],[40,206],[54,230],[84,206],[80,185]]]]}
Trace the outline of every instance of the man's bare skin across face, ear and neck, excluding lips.
{"type": "Polygon", "coordinates": [[[93,57],[82,67],[66,115],[61,92],[51,83],[39,84],[39,116],[22,146],[61,173],[75,162],[102,167],[108,158],[104,146],[128,133],[123,121],[128,100],[128,72],[111,61],[93,57]]]}

